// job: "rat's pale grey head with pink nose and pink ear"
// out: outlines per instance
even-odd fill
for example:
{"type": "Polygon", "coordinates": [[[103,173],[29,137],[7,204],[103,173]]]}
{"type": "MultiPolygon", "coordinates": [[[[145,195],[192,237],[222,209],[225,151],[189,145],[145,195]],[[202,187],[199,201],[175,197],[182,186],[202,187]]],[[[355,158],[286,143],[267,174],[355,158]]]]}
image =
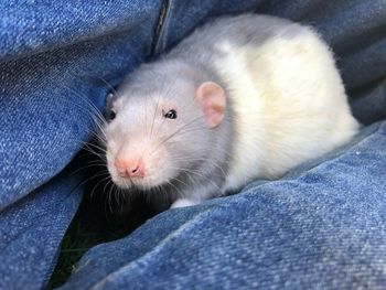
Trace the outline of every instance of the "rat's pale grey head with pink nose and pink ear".
{"type": "Polygon", "coordinates": [[[211,154],[226,111],[224,89],[213,82],[124,83],[107,108],[107,168],[124,189],[169,183],[211,154]]]}

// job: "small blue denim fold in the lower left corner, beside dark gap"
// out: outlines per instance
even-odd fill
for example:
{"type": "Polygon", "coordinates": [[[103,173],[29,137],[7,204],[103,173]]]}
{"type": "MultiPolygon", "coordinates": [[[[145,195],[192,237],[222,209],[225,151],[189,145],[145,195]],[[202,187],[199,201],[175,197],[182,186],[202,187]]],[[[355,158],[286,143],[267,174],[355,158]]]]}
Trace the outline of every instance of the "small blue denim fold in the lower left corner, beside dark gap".
{"type": "Polygon", "coordinates": [[[0,289],[39,289],[49,279],[82,197],[79,182],[67,170],[1,212],[0,289]]]}

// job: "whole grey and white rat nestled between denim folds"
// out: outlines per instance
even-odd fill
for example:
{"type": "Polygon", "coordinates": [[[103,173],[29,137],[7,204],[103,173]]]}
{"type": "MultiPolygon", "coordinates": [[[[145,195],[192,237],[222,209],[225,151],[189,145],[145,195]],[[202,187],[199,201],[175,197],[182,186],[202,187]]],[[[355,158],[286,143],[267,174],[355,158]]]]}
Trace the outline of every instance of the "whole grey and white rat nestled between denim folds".
{"type": "Polygon", "coordinates": [[[360,129],[329,46],[270,15],[212,20],[140,65],[107,103],[112,182],[162,208],[280,179],[360,129]]]}

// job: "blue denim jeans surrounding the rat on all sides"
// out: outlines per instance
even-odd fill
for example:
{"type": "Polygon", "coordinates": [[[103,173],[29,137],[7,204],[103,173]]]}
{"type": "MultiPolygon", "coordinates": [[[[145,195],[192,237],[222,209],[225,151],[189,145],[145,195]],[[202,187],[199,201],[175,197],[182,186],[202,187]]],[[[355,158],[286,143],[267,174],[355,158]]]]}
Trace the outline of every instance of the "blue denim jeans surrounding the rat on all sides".
{"type": "Polygon", "coordinates": [[[119,84],[206,19],[242,12],[315,26],[361,135],[282,180],[159,214],[90,249],[63,288],[386,287],[385,1],[4,0],[0,289],[50,279],[82,198],[76,154],[95,129],[89,103],[101,109],[109,90],[100,78],[119,84]]]}

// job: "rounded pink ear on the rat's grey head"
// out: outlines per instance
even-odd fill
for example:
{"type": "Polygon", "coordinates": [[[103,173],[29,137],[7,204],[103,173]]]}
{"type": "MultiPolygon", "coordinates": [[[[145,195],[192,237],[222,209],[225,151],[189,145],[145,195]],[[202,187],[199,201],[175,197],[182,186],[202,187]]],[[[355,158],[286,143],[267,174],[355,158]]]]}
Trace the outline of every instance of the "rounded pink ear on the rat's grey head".
{"type": "Polygon", "coordinates": [[[208,128],[218,126],[225,116],[226,97],[224,89],[213,82],[205,82],[195,92],[208,128]]]}

